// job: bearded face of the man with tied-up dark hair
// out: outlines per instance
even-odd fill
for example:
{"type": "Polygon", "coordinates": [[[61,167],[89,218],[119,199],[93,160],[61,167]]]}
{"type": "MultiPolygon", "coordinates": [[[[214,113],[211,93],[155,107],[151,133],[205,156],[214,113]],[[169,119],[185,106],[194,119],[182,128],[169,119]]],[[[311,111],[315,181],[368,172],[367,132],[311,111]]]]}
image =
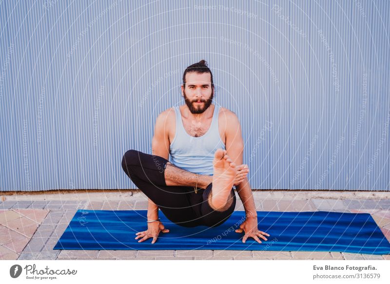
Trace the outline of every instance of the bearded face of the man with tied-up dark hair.
{"type": "Polygon", "coordinates": [[[191,113],[203,113],[213,101],[210,73],[189,72],[186,74],[186,87],[181,86],[184,100],[191,113]]]}

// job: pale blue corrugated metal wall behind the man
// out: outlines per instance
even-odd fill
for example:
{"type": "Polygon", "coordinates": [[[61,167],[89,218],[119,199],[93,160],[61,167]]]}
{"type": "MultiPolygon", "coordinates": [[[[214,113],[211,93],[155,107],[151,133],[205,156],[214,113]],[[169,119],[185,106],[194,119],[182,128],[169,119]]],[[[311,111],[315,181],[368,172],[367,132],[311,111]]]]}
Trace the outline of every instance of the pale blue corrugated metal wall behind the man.
{"type": "Polygon", "coordinates": [[[259,189],[390,190],[390,2],[0,1],[0,190],[135,188],[209,62],[259,189]],[[209,6],[206,6],[209,5],[209,6]],[[211,6],[210,6],[211,5],[211,6]]]}

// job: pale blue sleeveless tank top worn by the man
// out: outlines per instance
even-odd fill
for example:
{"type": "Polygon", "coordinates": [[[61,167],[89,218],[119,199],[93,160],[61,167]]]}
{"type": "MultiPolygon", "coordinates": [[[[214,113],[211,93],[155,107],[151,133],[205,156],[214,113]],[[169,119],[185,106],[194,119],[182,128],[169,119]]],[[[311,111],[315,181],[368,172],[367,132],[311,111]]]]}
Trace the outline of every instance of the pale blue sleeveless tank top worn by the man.
{"type": "Polygon", "coordinates": [[[179,106],[174,107],[176,133],[170,145],[171,163],[196,174],[213,175],[214,153],[218,148],[225,150],[218,130],[219,108],[215,105],[209,130],[200,137],[193,137],[184,129],[179,106]]]}

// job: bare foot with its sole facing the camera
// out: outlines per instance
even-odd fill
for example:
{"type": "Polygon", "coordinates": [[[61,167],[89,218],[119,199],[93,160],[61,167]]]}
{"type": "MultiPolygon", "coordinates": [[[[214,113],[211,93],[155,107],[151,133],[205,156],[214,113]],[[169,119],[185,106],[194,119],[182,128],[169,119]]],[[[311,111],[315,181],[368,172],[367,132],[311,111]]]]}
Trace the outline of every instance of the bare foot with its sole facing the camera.
{"type": "Polygon", "coordinates": [[[213,165],[212,204],[210,205],[220,209],[226,205],[237,175],[237,167],[223,149],[215,151],[213,165]]]}

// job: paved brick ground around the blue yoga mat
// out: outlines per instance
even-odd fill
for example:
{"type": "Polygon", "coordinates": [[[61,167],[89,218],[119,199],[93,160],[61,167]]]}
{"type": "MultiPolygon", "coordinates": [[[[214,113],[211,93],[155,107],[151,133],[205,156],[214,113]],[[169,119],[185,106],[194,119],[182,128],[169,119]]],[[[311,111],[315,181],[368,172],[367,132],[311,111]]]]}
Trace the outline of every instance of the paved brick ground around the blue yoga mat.
{"type": "MultiPolygon", "coordinates": [[[[390,241],[390,193],[255,191],[258,211],[370,213],[390,241]]],[[[236,250],[53,250],[78,209],[147,209],[139,191],[4,193],[0,201],[0,260],[390,260],[390,255],[236,250]]],[[[238,201],[238,200],[237,200],[238,201]]],[[[236,210],[244,210],[237,202],[236,210]]]]}

